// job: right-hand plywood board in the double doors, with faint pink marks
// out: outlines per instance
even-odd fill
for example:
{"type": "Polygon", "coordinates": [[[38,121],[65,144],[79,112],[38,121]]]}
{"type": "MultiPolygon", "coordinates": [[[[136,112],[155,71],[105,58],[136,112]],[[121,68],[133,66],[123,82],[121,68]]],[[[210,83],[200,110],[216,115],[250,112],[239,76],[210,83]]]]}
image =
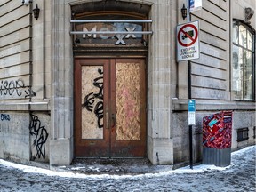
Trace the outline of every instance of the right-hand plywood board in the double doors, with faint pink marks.
{"type": "Polygon", "coordinates": [[[140,140],[140,63],[116,63],[116,140],[140,140]]]}

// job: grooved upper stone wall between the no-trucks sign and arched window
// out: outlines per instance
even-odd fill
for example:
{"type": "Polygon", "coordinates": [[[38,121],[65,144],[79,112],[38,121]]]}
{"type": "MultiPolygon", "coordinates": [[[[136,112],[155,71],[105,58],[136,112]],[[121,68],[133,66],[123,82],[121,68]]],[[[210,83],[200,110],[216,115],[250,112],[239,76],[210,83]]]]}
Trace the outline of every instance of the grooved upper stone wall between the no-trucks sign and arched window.
{"type": "MultiPolygon", "coordinates": [[[[203,1],[202,10],[192,12],[199,20],[200,59],[191,62],[192,98],[229,100],[229,1],[203,1]]],[[[179,72],[187,71],[186,62],[179,72]]],[[[188,76],[179,73],[179,99],[188,98],[188,76]]]]}

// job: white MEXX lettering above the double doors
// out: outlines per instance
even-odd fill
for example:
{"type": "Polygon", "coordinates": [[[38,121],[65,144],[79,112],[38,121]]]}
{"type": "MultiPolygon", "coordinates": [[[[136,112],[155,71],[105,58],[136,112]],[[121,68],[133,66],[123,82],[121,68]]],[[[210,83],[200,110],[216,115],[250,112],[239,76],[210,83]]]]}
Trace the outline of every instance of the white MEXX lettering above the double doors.
{"type": "MultiPolygon", "coordinates": [[[[132,32],[132,31],[135,31],[136,27],[132,27],[132,28],[129,28],[129,27],[125,27],[125,30],[128,31],[128,32],[132,32]]],[[[92,32],[92,33],[89,33],[89,34],[84,34],[83,35],[83,38],[86,38],[86,36],[88,37],[93,37],[94,39],[97,38],[97,34],[95,34],[95,32],[97,31],[116,31],[116,28],[113,28],[113,30],[110,30],[109,28],[100,28],[99,30],[97,30],[97,26],[94,26],[92,28],[92,30],[88,30],[88,28],[83,28],[83,31],[84,32],[92,32]]],[[[99,35],[101,39],[108,39],[110,38],[111,36],[108,36],[108,35],[104,35],[104,34],[100,34],[99,35]]],[[[125,42],[124,42],[124,38],[136,38],[136,36],[134,34],[127,34],[127,35],[121,35],[121,34],[116,34],[115,35],[116,38],[117,38],[117,41],[116,41],[116,45],[118,44],[124,44],[125,45],[125,42]]]]}

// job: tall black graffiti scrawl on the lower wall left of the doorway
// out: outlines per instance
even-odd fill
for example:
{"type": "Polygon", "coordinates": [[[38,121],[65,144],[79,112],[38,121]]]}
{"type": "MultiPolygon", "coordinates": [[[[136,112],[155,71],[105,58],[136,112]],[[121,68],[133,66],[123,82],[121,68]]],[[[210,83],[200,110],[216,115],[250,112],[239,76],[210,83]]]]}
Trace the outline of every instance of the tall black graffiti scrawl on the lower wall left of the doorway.
{"type": "Polygon", "coordinates": [[[45,143],[49,134],[45,127],[41,125],[38,116],[30,114],[29,133],[31,136],[36,136],[33,141],[33,146],[36,147],[36,156],[33,156],[33,160],[36,157],[41,158],[41,156],[45,158],[45,143]]]}

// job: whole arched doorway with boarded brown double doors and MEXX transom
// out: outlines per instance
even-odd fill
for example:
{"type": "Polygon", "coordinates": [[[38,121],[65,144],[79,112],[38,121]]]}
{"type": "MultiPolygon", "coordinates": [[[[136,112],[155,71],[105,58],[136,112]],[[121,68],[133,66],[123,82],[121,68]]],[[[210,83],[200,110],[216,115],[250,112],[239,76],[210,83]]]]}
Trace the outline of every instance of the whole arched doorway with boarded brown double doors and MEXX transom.
{"type": "Polygon", "coordinates": [[[142,8],[116,1],[72,7],[76,157],[146,156],[150,20],[142,8]]]}

